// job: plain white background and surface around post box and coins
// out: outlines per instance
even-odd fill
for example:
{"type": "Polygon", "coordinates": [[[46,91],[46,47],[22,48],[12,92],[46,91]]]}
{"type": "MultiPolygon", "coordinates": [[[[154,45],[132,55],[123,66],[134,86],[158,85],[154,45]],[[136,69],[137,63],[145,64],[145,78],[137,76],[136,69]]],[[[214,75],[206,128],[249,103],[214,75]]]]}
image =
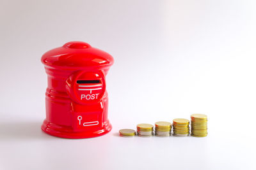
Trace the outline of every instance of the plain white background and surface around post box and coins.
{"type": "Polygon", "coordinates": [[[255,169],[255,1],[0,1],[0,169],[255,169]],[[113,55],[113,130],[44,134],[40,57],[68,41],[113,55]],[[209,117],[207,138],[121,138],[136,124],[209,117]]]}

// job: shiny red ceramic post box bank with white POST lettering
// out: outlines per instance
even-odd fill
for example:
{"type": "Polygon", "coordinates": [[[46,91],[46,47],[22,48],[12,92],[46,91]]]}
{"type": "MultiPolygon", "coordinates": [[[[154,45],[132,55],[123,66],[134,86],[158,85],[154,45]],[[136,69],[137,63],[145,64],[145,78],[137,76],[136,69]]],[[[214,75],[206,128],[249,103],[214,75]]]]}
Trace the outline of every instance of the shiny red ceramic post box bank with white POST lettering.
{"type": "Polygon", "coordinates": [[[48,77],[42,131],[72,139],[111,131],[105,77],[113,57],[72,41],[46,52],[41,60],[48,77]]]}

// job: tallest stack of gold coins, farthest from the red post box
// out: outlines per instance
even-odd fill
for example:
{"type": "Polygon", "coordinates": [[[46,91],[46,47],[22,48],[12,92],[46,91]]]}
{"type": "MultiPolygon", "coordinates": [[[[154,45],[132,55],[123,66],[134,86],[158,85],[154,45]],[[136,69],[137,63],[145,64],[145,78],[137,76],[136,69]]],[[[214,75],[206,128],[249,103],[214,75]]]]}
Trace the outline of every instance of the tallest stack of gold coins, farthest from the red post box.
{"type": "Polygon", "coordinates": [[[207,136],[207,115],[193,114],[191,115],[191,135],[195,137],[207,136]]]}

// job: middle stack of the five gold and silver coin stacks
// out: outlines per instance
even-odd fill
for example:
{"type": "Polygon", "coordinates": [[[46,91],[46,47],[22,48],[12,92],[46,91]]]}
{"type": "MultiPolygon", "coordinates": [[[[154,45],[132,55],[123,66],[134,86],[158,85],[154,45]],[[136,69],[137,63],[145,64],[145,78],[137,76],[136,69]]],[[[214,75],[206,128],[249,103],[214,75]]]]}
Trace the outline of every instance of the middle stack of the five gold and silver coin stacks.
{"type": "Polygon", "coordinates": [[[172,124],[170,122],[156,122],[155,133],[159,137],[171,136],[172,124]]]}

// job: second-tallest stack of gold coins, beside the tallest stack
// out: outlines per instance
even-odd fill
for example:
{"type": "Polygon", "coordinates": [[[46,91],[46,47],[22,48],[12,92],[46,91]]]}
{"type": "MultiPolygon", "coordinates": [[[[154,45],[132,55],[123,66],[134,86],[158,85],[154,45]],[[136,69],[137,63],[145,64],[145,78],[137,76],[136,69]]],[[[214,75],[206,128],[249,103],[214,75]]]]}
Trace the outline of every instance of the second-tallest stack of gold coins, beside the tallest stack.
{"type": "Polygon", "coordinates": [[[185,118],[173,119],[173,135],[188,136],[189,135],[189,120],[185,118]]]}

